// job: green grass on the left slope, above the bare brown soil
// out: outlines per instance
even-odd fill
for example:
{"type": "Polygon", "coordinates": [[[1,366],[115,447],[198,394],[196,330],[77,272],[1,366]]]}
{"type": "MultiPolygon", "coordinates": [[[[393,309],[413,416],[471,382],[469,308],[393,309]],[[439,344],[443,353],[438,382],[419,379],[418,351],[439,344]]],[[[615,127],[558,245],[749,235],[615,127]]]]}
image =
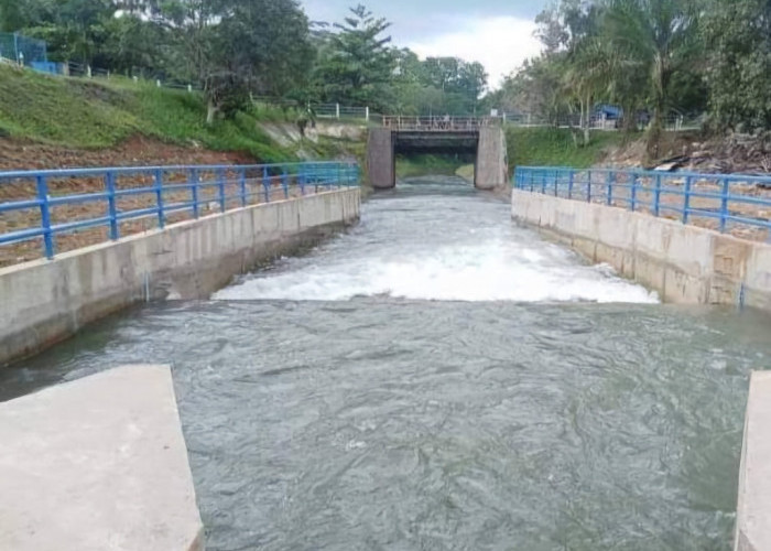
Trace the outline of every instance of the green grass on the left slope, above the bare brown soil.
{"type": "Polygon", "coordinates": [[[95,82],[40,75],[0,66],[0,134],[76,149],[116,145],[132,134],[217,151],[242,151],[258,160],[296,159],[274,143],[259,122],[286,120],[279,109],[239,112],[205,123],[200,94],[116,78],[95,82]]]}

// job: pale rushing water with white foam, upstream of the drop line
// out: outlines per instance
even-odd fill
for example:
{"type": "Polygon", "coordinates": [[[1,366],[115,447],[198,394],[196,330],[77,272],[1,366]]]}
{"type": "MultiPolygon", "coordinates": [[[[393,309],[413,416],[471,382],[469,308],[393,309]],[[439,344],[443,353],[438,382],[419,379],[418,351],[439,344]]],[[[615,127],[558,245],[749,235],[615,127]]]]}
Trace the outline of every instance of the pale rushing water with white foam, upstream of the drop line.
{"type": "Polygon", "coordinates": [[[508,209],[498,204],[474,205],[469,220],[463,208],[441,212],[434,205],[438,212],[433,219],[425,212],[397,208],[413,206],[399,202],[372,202],[376,205],[363,213],[365,223],[354,234],[308,257],[289,259],[278,270],[248,277],[214,299],[659,301],[608,266],[587,266],[572,251],[514,227],[508,209]],[[475,223],[474,215],[485,222],[475,223]]]}

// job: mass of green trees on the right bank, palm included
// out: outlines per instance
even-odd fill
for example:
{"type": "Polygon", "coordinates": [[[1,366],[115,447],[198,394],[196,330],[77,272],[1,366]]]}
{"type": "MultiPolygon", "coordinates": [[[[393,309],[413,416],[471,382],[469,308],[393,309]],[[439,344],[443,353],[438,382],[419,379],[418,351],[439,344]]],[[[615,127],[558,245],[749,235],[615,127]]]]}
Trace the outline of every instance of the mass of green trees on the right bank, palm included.
{"type": "Polygon", "coordinates": [[[667,117],[701,115],[712,136],[771,131],[771,14],[767,0],[556,0],[536,19],[543,53],[486,101],[557,126],[577,120],[576,147],[597,106],[622,107],[618,126],[645,129],[662,156],[667,117]]]}

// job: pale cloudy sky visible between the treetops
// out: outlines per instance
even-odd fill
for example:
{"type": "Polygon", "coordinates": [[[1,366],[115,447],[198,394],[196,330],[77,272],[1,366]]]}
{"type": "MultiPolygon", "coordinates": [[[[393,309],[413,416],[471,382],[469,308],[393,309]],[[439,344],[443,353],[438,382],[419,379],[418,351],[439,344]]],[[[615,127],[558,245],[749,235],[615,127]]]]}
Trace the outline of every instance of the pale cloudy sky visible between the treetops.
{"type": "MultiPolygon", "coordinates": [[[[547,0],[370,0],[376,15],[393,22],[395,45],[422,57],[457,56],[481,62],[496,87],[540,51],[535,15],[547,0]]],[[[337,22],[357,0],[301,0],[314,21],[337,22]]]]}

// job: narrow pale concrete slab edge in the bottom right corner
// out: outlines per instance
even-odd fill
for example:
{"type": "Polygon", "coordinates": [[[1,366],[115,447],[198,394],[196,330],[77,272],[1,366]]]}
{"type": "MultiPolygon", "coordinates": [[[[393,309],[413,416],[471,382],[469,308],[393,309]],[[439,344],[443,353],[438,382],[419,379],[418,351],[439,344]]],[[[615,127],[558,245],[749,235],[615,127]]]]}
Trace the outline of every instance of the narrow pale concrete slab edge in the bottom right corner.
{"type": "Polygon", "coordinates": [[[771,549],[771,372],[750,380],[739,473],[735,551],[771,549]]]}

